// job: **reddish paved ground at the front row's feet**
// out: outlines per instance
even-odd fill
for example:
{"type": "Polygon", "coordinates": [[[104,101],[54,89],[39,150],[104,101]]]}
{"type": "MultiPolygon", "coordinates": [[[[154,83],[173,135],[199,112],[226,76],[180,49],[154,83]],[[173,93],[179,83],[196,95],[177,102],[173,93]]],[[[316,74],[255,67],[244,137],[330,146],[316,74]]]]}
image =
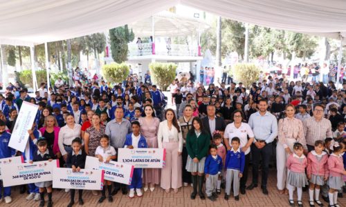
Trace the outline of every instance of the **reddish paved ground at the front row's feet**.
{"type": "MultiPolygon", "coordinates": [[[[251,181],[251,178],[249,179],[251,181]]],[[[183,187],[179,190],[179,193],[165,193],[161,188],[156,187],[154,192],[151,193],[148,190],[144,193],[143,197],[129,199],[127,195],[121,195],[118,193],[115,195],[113,203],[108,203],[107,199],[102,204],[98,204],[99,196],[92,195],[91,191],[85,191],[83,194],[84,206],[143,206],[143,207],[156,207],[156,206],[289,206],[288,195],[280,195],[276,190],[276,173],[271,171],[268,179],[268,191],[269,195],[263,195],[260,187],[254,190],[247,190],[246,195],[240,195],[240,200],[235,201],[233,196],[228,201],[224,200],[224,191],[221,193],[221,197],[217,201],[212,202],[208,199],[201,200],[197,196],[195,200],[190,199],[190,193],[192,187],[183,187]]],[[[12,190],[13,201],[10,205],[1,203],[0,206],[38,206],[38,201],[26,201],[26,195],[19,195],[19,189],[12,190]]],[[[77,201],[76,193],[76,201],[77,201]]],[[[296,198],[296,196],[295,196],[296,198]]],[[[46,197],[47,199],[47,197],[46,197]]],[[[308,193],[303,192],[304,206],[309,206],[308,193]]],[[[338,203],[341,206],[346,206],[346,194],[344,198],[338,199],[338,203]]],[[[69,193],[65,193],[64,190],[53,192],[53,206],[67,206],[69,204],[69,193]]],[[[326,203],[324,203],[327,206],[326,203]]],[[[78,206],[78,204],[75,204],[78,206]]]]}

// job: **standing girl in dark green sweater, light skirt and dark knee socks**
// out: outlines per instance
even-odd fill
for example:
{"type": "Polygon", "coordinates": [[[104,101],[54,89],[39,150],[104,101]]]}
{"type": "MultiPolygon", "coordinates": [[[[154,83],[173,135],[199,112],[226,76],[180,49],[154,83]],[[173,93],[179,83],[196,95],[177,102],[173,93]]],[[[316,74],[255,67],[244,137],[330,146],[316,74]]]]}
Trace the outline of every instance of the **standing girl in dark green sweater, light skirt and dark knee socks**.
{"type": "Polygon", "coordinates": [[[199,186],[199,197],[206,199],[203,194],[204,182],[204,163],[208,155],[210,145],[210,135],[203,128],[202,120],[199,117],[194,117],[192,120],[192,129],[186,137],[186,150],[188,150],[188,161],[186,162],[186,170],[191,172],[193,192],[191,199],[195,199],[197,195],[197,180],[199,186]]]}

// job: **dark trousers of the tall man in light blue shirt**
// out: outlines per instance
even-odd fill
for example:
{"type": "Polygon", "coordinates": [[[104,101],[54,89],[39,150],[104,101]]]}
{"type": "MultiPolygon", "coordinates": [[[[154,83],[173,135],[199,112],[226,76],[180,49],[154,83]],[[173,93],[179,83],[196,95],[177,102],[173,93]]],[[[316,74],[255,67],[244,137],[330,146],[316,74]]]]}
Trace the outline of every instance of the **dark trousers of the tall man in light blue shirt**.
{"type": "Polygon", "coordinates": [[[253,157],[253,184],[258,184],[258,166],[260,166],[260,157],[262,157],[262,183],[261,186],[266,187],[268,180],[269,162],[273,154],[273,144],[266,144],[263,148],[259,149],[255,144],[251,145],[251,153],[253,157]]]}

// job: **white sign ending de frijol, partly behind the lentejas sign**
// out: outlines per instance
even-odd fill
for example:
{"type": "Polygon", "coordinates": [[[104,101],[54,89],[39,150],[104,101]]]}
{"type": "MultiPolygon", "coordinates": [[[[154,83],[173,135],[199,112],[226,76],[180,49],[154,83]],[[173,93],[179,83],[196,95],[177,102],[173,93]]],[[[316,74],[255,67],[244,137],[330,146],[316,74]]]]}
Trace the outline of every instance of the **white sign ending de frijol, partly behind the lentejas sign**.
{"type": "Polygon", "coordinates": [[[98,161],[97,157],[86,156],[86,169],[104,170],[104,179],[120,184],[130,185],[134,166],[116,161],[104,163],[98,161]]]}

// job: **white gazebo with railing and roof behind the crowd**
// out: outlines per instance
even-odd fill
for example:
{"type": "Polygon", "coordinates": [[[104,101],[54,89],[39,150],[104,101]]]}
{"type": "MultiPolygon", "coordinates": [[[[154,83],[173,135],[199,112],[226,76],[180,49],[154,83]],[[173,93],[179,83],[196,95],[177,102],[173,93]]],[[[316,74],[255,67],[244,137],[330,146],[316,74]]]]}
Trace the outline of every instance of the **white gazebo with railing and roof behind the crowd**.
{"type": "Polygon", "coordinates": [[[188,17],[163,11],[130,23],[129,27],[134,31],[136,38],[134,42],[128,44],[127,62],[140,66],[139,73],[143,81],[149,63],[154,61],[188,62],[190,69],[194,63],[197,66],[201,65],[203,57],[201,57],[199,34],[209,26],[199,16],[188,17]],[[142,43],[137,43],[137,37],[142,39],[142,43]],[[186,42],[174,43],[174,37],[185,37],[186,42]]]}

